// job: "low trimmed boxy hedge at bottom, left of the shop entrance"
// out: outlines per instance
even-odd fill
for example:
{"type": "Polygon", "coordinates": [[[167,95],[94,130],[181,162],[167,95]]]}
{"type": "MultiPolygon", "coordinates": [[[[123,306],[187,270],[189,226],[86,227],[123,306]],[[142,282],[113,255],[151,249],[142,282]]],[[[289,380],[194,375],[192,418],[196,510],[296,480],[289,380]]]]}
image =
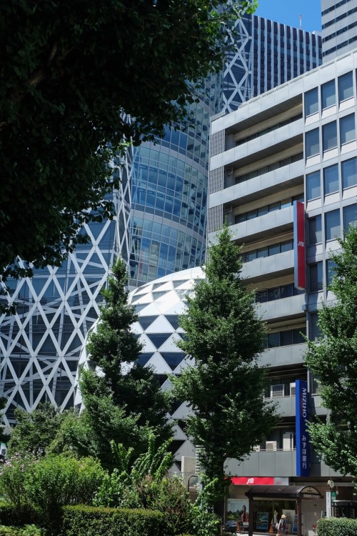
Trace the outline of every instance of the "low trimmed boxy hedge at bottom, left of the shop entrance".
{"type": "Polygon", "coordinates": [[[61,536],[169,536],[163,513],[85,505],[63,509],[61,536]]]}

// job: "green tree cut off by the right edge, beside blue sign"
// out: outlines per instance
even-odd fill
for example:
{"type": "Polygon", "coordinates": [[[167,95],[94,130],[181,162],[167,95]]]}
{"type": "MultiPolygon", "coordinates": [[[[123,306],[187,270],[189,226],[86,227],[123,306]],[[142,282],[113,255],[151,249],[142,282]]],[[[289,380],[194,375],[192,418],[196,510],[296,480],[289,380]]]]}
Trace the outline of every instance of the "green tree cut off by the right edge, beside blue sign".
{"type": "Polygon", "coordinates": [[[330,289],[333,304],[318,312],[321,337],[308,341],[306,366],[318,381],[318,394],[330,410],[327,422],[309,425],[311,441],[324,462],[343,475],[357,476],[357,228],[339,239],[341,251],[330,289]]]}

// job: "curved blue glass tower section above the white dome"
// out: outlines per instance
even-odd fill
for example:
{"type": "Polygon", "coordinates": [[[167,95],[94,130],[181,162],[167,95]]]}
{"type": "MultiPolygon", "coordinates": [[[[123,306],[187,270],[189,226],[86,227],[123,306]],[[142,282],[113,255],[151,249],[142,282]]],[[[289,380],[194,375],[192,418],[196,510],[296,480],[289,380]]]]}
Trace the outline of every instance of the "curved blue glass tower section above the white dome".
{"type": "Polygon", "coordinates": [[[221,107],[222,77],[211,76],[191,106],[187,131],[166,129],[134,152],[130,284],[203,264],[208,132],[221,107]]]}

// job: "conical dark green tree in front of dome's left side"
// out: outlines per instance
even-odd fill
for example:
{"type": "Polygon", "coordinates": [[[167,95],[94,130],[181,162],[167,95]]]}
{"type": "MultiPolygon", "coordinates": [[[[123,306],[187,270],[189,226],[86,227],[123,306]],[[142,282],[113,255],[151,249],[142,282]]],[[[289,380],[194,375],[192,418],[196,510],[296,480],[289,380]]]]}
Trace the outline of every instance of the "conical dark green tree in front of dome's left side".
{"type": "Polygon", "coordinates": [[[149,435],[158,442],[172,435],[166,420],[170,394],[161,391],[154,369],[138,363],[141,343],[131,331],[138,318],[128,303],[126,265],[119,259],[113,267],[99,324],[92,332],[87,351],[93,367],[81,374],[84,419],[96,435],[98,455],[106,467],[114,467],[110,441],[134,447],[139,455],[149,435]]]}

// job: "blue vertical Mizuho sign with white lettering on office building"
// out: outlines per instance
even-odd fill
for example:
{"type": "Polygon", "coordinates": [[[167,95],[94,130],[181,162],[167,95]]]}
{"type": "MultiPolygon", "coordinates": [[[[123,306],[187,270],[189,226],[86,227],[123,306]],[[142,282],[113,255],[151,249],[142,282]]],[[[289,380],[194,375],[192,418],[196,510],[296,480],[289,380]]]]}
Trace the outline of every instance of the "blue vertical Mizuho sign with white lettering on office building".
{"type": "Polygon", "coordinates": [[[308,437],[308,382],[297,379],[296,386],[296,476],[310,475],[310,441],[308,437]]]}

